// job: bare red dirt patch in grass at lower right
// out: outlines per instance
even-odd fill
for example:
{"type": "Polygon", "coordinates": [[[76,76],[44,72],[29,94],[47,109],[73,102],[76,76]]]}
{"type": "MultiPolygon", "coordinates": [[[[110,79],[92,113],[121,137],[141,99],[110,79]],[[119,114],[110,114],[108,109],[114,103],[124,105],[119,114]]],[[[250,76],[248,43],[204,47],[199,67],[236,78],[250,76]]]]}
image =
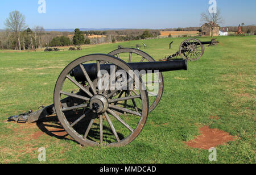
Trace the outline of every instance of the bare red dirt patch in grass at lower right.
{"type": "Polygon", "coordinates": [[[200,136],[185,142],[185,144],[192,148],[209,149],[234,140],[234,137],[229,135],[228,132],[210,129],[209,126],[201,127],[199,132],[201,133],[200,136]]]}

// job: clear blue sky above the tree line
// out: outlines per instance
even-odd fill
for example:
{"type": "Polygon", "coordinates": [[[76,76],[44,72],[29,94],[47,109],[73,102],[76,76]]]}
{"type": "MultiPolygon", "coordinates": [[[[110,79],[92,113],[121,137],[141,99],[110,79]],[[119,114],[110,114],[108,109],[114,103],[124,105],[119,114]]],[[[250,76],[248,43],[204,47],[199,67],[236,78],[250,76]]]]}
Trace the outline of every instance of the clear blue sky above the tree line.
{"type": "MultiPolygon", "coordinates": [[[[1,0],[0,29],[9,12],[26,16],[29,27],[44,28],[174,28],[200,26],[200,14],[209,0],[45,0],[46,14],[39,14],[38,0],[1,0]]],[[[216,0],[224,26],[256,24],[255,0],[216,0]]]]}

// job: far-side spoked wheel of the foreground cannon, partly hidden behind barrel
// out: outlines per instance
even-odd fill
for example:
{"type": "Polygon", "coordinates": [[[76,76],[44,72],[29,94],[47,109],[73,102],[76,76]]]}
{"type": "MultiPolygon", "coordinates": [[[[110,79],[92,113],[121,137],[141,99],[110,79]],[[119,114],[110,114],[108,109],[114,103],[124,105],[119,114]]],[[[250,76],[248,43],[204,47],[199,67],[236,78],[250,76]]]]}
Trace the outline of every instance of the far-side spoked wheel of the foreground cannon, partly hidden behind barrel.
{"type": "MultiPolygon", "coordinates": [[[[117,49],[109,53],[126,62],[154,62],[155,60],[147,53],[133,48],[117,49]]],[[[155,109],[163,95],[164,82],[161,72],[148,73],[142,76],[142,80],[147,87],[148,99],[150,102],[150,112],[155,109]]]]}

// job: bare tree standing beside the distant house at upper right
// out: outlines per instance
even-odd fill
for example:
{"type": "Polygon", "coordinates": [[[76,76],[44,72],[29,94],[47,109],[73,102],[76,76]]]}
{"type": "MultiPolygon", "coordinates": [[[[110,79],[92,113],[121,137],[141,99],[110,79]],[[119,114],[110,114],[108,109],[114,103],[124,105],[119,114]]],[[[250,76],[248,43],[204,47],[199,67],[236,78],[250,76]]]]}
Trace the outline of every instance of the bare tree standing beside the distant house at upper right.
{"type": "Polygon", "coordinates": [[[216,13],[210,13],[208,12],[203,12],[201,14],[201,23],[208,23],[210,26],[210,31],[212,32],[212,36],[213,36],[213,29],[214,26],[216,26],[217,24],[223,24],[224,20],[221,17],[221,12],[220,10],[217,10],[216,13]]]}

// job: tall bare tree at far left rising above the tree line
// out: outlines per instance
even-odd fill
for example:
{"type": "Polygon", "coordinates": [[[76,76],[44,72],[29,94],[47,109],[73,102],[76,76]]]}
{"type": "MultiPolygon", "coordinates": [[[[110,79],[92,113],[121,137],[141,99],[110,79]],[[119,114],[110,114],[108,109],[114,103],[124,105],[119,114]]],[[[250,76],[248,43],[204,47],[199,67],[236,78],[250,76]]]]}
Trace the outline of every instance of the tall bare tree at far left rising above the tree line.
{"type": "Polygon", "coordinates": [[[20,31],[26,28],[25,16],[21,14],[19,11],[12,11],[9,14],[9,18],[5,21],[5,26],[11,32],[14,32],[15,37],[18,41],[18,48],[21,50],[20,46],[20,31]]]}

